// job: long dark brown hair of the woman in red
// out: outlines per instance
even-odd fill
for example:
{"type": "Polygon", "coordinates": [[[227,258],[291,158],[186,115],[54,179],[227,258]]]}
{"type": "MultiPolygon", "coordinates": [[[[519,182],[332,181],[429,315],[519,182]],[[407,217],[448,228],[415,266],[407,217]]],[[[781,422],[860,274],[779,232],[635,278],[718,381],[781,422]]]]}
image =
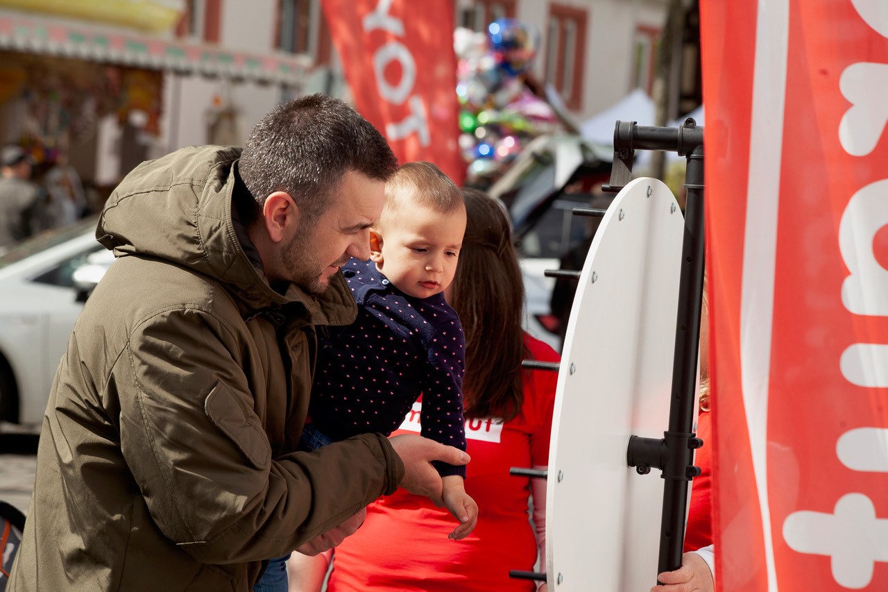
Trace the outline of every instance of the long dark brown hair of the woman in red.
{"type": "Polygon", "coordinates": [[[464,188],[466,226],[449,304],[465,333],[465,417],[511,420],[524,393],[524,284],[503,205],[464,188]]]}

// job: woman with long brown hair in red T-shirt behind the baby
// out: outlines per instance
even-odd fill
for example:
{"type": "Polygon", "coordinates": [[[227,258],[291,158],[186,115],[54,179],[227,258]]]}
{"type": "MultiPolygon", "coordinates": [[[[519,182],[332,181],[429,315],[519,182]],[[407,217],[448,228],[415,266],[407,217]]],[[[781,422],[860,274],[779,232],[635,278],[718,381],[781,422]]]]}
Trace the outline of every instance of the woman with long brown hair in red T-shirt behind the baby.
{"type": "MultiPolygon", "coordinates": [[[[544,583],[509,577],[510,570],[534,571],[538,557],[545,564],[545,480],[510,476],[509,469],[548,463],[558,375],[523,370],[521,360],[559,356],[521,329],[524,288],[508,214],[480,191],[463,192],[468,221],[447,300],[465,333],[472,457],[465,490],[478,502],[478,524],[465,539],[448,540],[454,519],[447,510],[398,490],[371,504],[358,532],[336,548],[329,592],[545,590],[544,583]]],[[[411,416],[418,417],[420,404],[402,429],[414,430],[411,416]]],[[[326,558],[294,554],[290,591],[321,589],[326,570],[326,558]]]]}

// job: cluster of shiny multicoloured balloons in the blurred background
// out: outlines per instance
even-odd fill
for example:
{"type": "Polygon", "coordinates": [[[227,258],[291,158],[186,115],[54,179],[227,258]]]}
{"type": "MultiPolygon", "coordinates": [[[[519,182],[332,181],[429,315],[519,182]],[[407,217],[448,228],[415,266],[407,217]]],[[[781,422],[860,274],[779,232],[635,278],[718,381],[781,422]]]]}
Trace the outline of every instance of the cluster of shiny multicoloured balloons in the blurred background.
{"type": "Polygon", "coordinates": [[[540,36],[533,25],[500,19],[487,34],[457,28],[454,41],[466,182],[486,188],[527,141],[558,126],[549,104],[527,84],[540,36]]]}

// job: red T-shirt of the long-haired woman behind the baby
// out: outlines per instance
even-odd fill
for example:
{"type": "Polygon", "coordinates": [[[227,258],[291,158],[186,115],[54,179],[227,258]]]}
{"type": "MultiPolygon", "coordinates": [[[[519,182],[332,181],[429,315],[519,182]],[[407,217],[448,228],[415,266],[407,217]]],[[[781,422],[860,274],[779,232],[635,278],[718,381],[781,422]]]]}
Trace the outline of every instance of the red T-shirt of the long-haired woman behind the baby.
{"type": "MultiPolygon", "coordinates": [[[[535,359],[558,361],[542,341],[526,337],[526,343],[535,359]]],[[[448,540],[456,528],[453,516],[399,489],[370,504],[358,532],[337,547],[329,592],[535,589],[532,581],[509,578],[509,570],[533,570],[537,555],[527,515],[529,479],[510,476],[509,469],[548,464],[558,375],[527,371],[525,376],[522,413],[503,426],[499,443],[478,439],[489,436],[495,424],[466,421],[472,462],[465,491],[479,508],[472,534],[448,540]]]]}

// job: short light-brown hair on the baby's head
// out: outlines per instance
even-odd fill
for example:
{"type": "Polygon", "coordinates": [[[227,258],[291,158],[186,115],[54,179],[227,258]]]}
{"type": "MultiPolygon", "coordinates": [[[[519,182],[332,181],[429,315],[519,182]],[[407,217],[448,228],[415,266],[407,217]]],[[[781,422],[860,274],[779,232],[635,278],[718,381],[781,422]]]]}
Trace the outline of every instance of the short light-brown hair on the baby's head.
{"type": "Polygon", "coordinates": [[[463,195],[456,184],[432,163],[401,164],[385,183],[385,207],[377,225],[400,208],[420,205],[448,214],[463,209],[463,195]]]}

